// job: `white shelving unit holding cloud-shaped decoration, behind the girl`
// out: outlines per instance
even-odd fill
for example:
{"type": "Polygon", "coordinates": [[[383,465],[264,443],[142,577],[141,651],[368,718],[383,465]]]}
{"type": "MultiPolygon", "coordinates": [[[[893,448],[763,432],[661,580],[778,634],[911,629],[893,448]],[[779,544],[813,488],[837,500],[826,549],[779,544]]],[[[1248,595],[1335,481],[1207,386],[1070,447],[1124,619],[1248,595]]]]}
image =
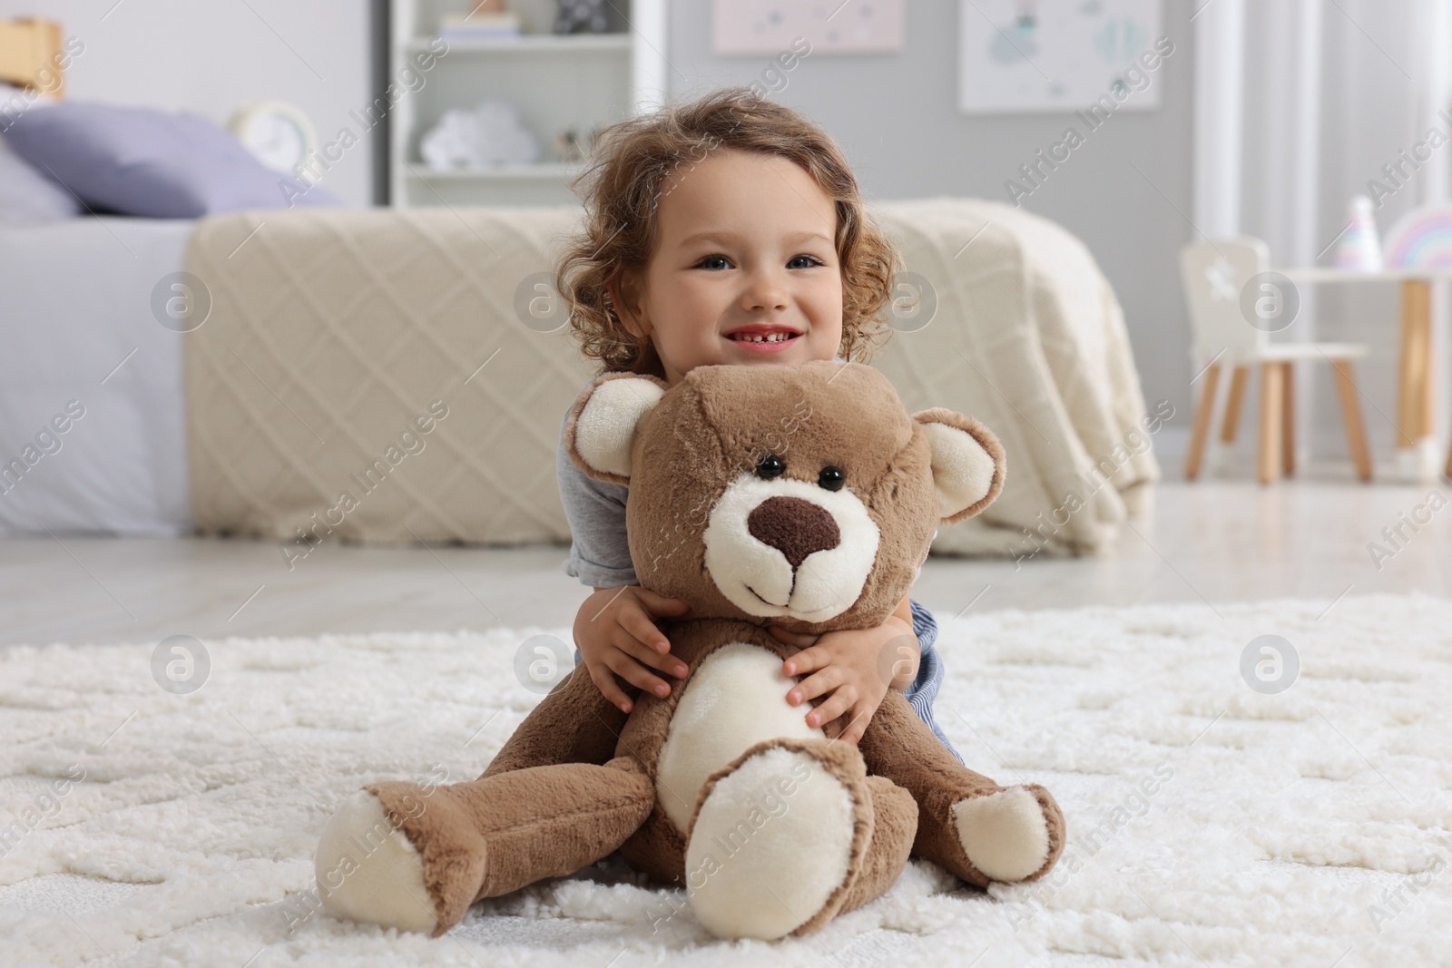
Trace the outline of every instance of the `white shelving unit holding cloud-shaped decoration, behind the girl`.
{"type": "Polygon", "coordinates": [[[391,4],[392,206],[579,203],[569,184],[588,132],[665,100],[666,1],[571,3],[575,32],[555,33],[562,6],[391,4]],[[592,10],[605,13],[603,33],[592,10]]]}

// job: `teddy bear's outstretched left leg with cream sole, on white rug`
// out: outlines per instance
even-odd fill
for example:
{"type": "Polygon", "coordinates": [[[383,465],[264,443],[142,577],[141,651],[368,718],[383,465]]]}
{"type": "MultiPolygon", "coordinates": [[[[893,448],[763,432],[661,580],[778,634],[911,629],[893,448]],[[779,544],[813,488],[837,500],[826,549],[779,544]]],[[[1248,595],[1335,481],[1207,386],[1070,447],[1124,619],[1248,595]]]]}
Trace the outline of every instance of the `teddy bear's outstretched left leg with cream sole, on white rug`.
{"type": "Polygon", "coordinates": [[[449,787],[375,784],[344,801],[318,840],[322,906],[351,920],[441,935],[481,898],[616,850],[653,804],[653,784],[629,756],[449,787]]]}

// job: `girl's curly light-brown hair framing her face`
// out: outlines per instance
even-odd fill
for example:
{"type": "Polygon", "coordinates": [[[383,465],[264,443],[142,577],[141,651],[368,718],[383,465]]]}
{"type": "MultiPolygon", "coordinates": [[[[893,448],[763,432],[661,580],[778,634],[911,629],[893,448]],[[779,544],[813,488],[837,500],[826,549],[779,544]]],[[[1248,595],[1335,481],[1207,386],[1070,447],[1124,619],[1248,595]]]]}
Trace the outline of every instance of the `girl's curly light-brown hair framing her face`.
{"type": "Polygon", "coordinates": [[[836,255],[842,270],[844,360],[862,361],[892,331],[881,309],[902,267],[896,247],[873,225],[842,149],[810,120],[758,96],[727,87],[700,100],[665,106],[603,129],[590,165],[571,181],[585,205],[581,231],[555,270],[555,289],[569,308],[581,351],[601,370],[664,377],[649,337],[632,334],[611,287],[643,270],[655,238],[656,209],[668,179],[714,148],[736,148],[794,161],[836,203],[836,255]],[[861,356],[858,356],[861,354],[861,356]]]}

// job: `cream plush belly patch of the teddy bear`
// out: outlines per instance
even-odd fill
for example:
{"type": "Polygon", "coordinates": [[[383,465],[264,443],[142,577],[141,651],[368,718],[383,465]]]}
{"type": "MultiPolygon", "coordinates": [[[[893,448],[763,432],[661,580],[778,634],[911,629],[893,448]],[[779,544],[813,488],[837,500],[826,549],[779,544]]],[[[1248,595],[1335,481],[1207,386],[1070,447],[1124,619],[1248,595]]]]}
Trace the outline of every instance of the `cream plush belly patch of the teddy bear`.
{"type": "Polygon", "coordinates": [[[787,704],[793,685],[781,657],[761,646],[732,641],[706,656],[685,684],[656,762],[656,794],[677,830],[685,833],[706,778],[748,747],[825,736],[807,726],[807,704],[787,704]]]}

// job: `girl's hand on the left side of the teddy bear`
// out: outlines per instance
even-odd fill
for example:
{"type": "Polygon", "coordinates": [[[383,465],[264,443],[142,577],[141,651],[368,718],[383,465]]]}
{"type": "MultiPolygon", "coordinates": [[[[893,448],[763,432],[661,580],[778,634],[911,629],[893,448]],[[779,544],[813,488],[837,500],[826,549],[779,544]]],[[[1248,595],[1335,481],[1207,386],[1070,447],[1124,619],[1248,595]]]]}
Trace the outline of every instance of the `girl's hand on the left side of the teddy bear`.
{"type": "Polygon", "coordinates": [[[591,682],[626,713],[635,705],[616,676],[665,698],[671,685],[650,673],[659,669],[681,678],[685,663],[671,655],[671,643],[655,627],[659,615],[684,615],[690,604],[665,598],[639,585],[597,588],[575,615],[575,646],[579,649],[591,682]]]}

